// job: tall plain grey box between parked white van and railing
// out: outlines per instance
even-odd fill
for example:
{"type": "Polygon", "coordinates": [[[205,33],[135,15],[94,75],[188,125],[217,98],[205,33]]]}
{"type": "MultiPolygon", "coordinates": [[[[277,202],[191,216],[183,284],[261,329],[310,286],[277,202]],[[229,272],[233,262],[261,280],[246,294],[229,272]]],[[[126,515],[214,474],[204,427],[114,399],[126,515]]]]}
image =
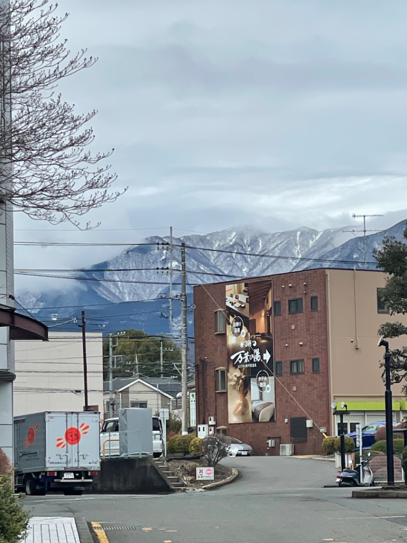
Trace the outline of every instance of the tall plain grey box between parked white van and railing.
{"type": "Polygon", "coordinates": [[[151,420],[150,407],[119,409],[120,456],[152,457],[151,420]]]}

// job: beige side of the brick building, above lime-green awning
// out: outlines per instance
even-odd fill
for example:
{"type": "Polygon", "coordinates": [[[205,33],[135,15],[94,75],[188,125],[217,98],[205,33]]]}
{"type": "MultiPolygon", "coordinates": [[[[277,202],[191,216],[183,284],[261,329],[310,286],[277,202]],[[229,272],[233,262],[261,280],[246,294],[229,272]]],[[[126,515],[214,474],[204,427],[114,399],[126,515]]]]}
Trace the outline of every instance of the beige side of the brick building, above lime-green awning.
{"type": "MultiPolygon", "coordinates": [[[[345,402],[351,415],[345,416],[347,431],[356,424],[385,420],[384,383],[380,362],[384,348],[378,348],[379,326],[387,321],[407,324],[404,315],[389,314],[380,302],[385,286],[381,271],[326,270],[329,350],[329,388],[332,401],[345,402]]],[[[402,348],[407,338],[389,339],[390,349],[402,348]]],[[[407,415],[403,384],[393,384],[393,420],[407,415]]],[[[338,427],[335,420],[335,427],[338,427]]]]}

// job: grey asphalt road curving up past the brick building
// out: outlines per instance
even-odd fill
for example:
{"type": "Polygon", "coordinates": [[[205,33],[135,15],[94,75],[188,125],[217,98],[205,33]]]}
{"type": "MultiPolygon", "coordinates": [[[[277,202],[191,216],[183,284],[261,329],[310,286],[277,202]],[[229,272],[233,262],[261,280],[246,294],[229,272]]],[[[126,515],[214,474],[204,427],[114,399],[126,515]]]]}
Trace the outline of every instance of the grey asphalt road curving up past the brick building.
{"type": "Polygon", "coordinates": [[[354,500],[351,489],[322,488],[334,481],[333,463],[287,457],[224,462],[241,475],[213,491],[50,495],[25,503],[39,516],[85,517],[110,543],[407,542],[404,500],[354,500]]]}

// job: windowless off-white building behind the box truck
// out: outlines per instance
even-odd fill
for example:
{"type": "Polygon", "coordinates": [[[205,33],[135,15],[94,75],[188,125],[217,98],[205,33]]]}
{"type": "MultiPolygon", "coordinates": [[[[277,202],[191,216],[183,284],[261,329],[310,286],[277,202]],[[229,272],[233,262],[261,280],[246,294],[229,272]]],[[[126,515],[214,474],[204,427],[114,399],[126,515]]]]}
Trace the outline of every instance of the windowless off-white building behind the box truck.
{"type": "MultiPolygon", "coordinates": [[[[14,414],[82,411],[82,332],[49,331],[48,342],[15,342],[14,414]]],[[[88,405],[103,411],[103,337],[86,333],[88,405]]]]}

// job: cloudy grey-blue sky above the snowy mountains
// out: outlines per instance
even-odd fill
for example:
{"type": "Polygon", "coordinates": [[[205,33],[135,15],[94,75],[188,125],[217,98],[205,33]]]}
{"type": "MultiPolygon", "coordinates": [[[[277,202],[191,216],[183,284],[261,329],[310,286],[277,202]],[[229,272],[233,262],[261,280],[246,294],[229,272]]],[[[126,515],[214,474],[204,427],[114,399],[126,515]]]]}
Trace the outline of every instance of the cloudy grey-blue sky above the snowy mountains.
{"type": "MultiPolygon", "coordinates": [[[[99,113],[117,187],[91,232],[16,213],[17,241],[139,241],[325,229],[407,217],[405,0],[60,0],[61,35],[99,61],[61,90],[99,113]],[[118,229],[124,229],[119,231],[118,229]],[[145,229],[145,230],[141,230],[145,229]],[[37,231],[42,230],[42,231],[37,231]]],[[[77,267],[117,248],[16,248],[16,267],[77,267]]]]}

